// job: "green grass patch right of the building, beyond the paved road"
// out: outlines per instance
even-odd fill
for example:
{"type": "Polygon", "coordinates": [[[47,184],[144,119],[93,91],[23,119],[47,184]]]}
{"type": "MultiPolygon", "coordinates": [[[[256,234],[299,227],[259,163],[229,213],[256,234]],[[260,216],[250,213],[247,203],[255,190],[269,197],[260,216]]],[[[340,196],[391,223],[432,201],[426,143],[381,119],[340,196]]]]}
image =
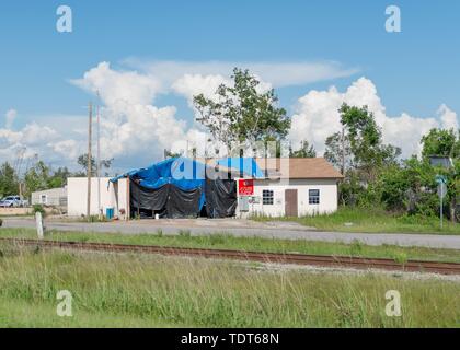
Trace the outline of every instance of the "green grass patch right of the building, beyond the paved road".
{"type": "Polygon", "coordinates": [[[295,221],[321,231],[460,234],[460,224],[451,223],[447,219],[444,221],[441,230],[438,218],[392,214],[378,209],[364,210],[342,207],[332,214],[303,218],[253,217],[252,219],[256,221],[295,221]]]}

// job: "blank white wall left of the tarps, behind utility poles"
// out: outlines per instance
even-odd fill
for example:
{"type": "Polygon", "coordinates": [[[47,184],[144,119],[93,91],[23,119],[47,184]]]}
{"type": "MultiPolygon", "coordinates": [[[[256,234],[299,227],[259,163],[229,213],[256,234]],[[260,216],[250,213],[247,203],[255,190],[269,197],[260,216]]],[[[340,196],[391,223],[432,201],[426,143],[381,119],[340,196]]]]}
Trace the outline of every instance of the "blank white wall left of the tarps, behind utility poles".
{"type": "MultiPolygon", "coordinates": [[[[107,208],[115,209],[119,217],[119,209],[127,210],[127,179],[120,179],[116,185],[110,183],[110,177],[100,178],[101,208],[105,215],[107,208]]],[[[87,214],[88,179],[85,177],[69,177],[67,179],[68,215],[81,217],[87,214]]],[[[97,215],[97,178],[91,179],[91,214],[97,215]]]]}

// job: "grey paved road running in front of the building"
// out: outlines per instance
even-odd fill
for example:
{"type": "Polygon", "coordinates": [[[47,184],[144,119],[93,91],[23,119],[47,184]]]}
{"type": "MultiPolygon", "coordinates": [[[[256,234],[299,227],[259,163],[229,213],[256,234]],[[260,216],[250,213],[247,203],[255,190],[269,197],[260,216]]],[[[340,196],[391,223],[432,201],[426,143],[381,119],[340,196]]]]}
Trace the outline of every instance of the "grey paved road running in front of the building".
{"type": "MultiPolygon", "coordinates": [[[[3,228],[34,228],[34,220],[27,218],[3,219],[3,228]]],[[[260,236],[268,238],[308,240],[323,242],[352,243],[359,241],[368,245],[400,245],[433,248],[460,249],[460,236],[432,234],[389,234],[389,233],[342,233],[311,231],[289,223],[254,223],[239,220],[169,220],[131,221],[110,223],[47,221],[48,230],[108,232],[108,233],[157,233],[179,234],[187,230],[192,235],[228,233],[234,236],[260,236]]]]}

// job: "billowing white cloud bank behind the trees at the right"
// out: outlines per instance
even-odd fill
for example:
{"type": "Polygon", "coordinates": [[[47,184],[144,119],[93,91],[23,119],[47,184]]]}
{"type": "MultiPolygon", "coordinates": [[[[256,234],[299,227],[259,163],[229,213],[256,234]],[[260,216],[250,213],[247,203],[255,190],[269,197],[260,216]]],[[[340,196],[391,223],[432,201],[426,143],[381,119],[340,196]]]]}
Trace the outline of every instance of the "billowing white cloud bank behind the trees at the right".
{"type": "Polygon", "coordinates": [[[332,86],[327,91],[310,91],[300,97],[292,116],[292,143],[298,145],[300,141],[309,140],[322,153],[326,137],[341,130],[337,110],[343,103],[367,105],[382,128],[383,141],[400,147],[403,156],[421,153],[419,140],[429,129],[458,127],[457,114],[446,105],[440,106],[438,118],[414,117],[406,113],[388,116],[376,85],[369,79],[360,78],[343,93],[332,86]]]}

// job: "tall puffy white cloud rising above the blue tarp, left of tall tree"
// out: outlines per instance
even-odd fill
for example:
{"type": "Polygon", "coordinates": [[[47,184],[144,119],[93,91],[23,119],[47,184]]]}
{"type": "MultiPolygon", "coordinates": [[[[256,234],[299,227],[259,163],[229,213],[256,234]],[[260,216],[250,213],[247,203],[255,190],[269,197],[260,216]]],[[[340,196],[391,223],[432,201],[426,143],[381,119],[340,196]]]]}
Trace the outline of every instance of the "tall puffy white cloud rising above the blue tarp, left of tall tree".
{"type": "Polygon", "coordinates": [[[152,104],[162,91],[157,77],[117,71],[102,62],[72,83],[92,93],[100,92],[105,105],[101,110],[103,158],[141,154],[152,161],[163,154],[163,149],[185,138],[186,122],[175,117],[176,108],[152,104]]]}

